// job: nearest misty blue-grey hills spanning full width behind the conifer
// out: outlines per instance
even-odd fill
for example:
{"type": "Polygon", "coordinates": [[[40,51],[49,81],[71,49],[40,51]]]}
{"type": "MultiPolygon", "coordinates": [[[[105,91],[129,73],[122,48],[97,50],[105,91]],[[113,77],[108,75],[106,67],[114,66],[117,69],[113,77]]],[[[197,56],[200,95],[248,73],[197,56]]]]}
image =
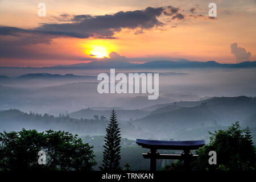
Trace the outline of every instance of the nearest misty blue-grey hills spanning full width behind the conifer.
{"type": "MultiPolygon", "coordinates": [[[[253,131],[256,129],[255,97],[213,97],[203,101],[180,101],[157,106],[158,109],[152,111],[117,110],[122,135],[129,138],[188,139],[193,136],[194,139],[207,139],[208,131],[223,129],[237,121],[240,121],[242,127],[248,125],[253,131]]],[[[150,108],[153,107],[155,106],[150,108]]],[[[88,108],[54,117],[49,114],[26,114],[14,109],[2,110],[0,129],[20,130],[22,127],[34,127],[39,130],[61,129],[82,135],[104,135],[110,113],[110,109],[88,108]],[[91,119],[93,115],[98,117],[91,119]],[[101,119],[101,115],[106,118],[101,119]]]]}

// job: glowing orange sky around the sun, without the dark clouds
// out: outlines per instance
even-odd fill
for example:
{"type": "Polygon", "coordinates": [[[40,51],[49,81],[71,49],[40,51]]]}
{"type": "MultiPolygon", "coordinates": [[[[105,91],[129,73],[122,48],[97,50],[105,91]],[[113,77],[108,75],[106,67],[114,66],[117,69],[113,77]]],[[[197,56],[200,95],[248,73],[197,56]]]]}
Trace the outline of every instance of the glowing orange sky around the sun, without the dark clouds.
{"type": "MultiPolygon", "coordinates": [[[[39,27],[40,23],[65,23],[56,20],[61,14],[112,15],[118,11],[144,10],[148,6],[179,7],[180,13],[185,17],[182,20],[170,20],[168,17],[159,16],[157,18],[163,26],[145,28],[143,32],[139,32],[140,28],[121,28],[114,33],[115,39],[53,37],[50,42],[15,44],[20,57],[18,53],[16,57],[11,53],[2,54],[0,66],[42,67],[75,64],[92,57],[108,56],[112,51],[135,62],[147,61],[147,57],[164,57],[169,60],[184,58],[193,61],[237,63],[236,56],[230,50],[233,43],[238,44],[238,49],[241,47],[245,52],[251,53],[249,60],[256,60],[255,1],[216,1],[217,18],[214,20],[208,18],[210,1],[180,2],[45,1],[47,16],[39,17],[38,3],[35,1],[0,1],[0,26],[24,30],[39,27]],[[189,11],[192,7],[196,9],[193,13],[189,11]],[[189,15],[204,16],[195,19],[189,15]],[[26,53],[19,51],[19,48],[35,55],[26,57],[26,53]]],[[[19,36],[12,35],[0,34],[0,38],[6,43],[19,40],[19,36]]]]}

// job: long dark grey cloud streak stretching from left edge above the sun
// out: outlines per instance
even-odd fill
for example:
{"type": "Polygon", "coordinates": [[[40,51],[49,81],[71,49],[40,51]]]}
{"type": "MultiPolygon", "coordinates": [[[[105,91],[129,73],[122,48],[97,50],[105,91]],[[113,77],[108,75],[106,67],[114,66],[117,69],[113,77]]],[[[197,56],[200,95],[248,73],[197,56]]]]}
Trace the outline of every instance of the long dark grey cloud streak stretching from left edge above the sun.
{"type": "Polygon", "coordinates": [[[179,13],[179,8],[168,7],[147,7],[144,10],[119,11],[113,15],[75,15],[70,18],[68,14],[62,14],[58,18],[71,23],[44,23],[31,30],[24,30],[16,27],[1,27],[0,35],[18,35],[22,32],[34,34],[46,34],[55,36],[68,36],[73,38],[111,38],[115,32],[122,28],[150,29],[163,26],[158,17],[160,15],[170,16],[170,19],[184,19],[184,15],[179,13]]]}

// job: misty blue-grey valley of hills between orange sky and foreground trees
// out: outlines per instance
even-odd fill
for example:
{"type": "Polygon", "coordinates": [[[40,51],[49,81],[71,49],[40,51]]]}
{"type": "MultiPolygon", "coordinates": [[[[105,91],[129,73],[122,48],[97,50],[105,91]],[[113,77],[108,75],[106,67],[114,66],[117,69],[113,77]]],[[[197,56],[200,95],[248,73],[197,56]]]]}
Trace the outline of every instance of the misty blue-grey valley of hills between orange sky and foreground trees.
{"type": "MultiPolygon", "coordinates": [[[[134,170],[149,169],[149,161],[141,155],[147,150],[137,146],[137,138],[208,143],[208,131],[227,129],[239,121],[242,127],[250,127],[255,139],[256,78],[251,74],[256,69],[136,70],[159,72],[157,100],[148,100],[142,93],[99,94],[97,73],[108,73],[109,69],[1,69],[9,72],[0,76],[1,132],[24,128],[78,134],[83,142],[94,146],[98,163],[94,169],[102,161],[112,109],[121,129],[121,166],[129,163],[134,170]],[[127,157],[129,152],[133,159],[127,157]]],[[[164,165],[161,160],[157,168],[164,165]]]]}

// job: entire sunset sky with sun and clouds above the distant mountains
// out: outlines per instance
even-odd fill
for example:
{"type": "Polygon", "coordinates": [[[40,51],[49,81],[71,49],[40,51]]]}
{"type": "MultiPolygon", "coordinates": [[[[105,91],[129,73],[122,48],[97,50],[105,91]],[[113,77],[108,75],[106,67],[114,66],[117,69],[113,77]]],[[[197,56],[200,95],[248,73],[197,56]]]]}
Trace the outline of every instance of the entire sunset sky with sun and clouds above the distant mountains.
{"type": "Polygon", "coordinates": [[[255,61],[255,22],[255,0],[0,0],[0,67],[255,61]]]}

